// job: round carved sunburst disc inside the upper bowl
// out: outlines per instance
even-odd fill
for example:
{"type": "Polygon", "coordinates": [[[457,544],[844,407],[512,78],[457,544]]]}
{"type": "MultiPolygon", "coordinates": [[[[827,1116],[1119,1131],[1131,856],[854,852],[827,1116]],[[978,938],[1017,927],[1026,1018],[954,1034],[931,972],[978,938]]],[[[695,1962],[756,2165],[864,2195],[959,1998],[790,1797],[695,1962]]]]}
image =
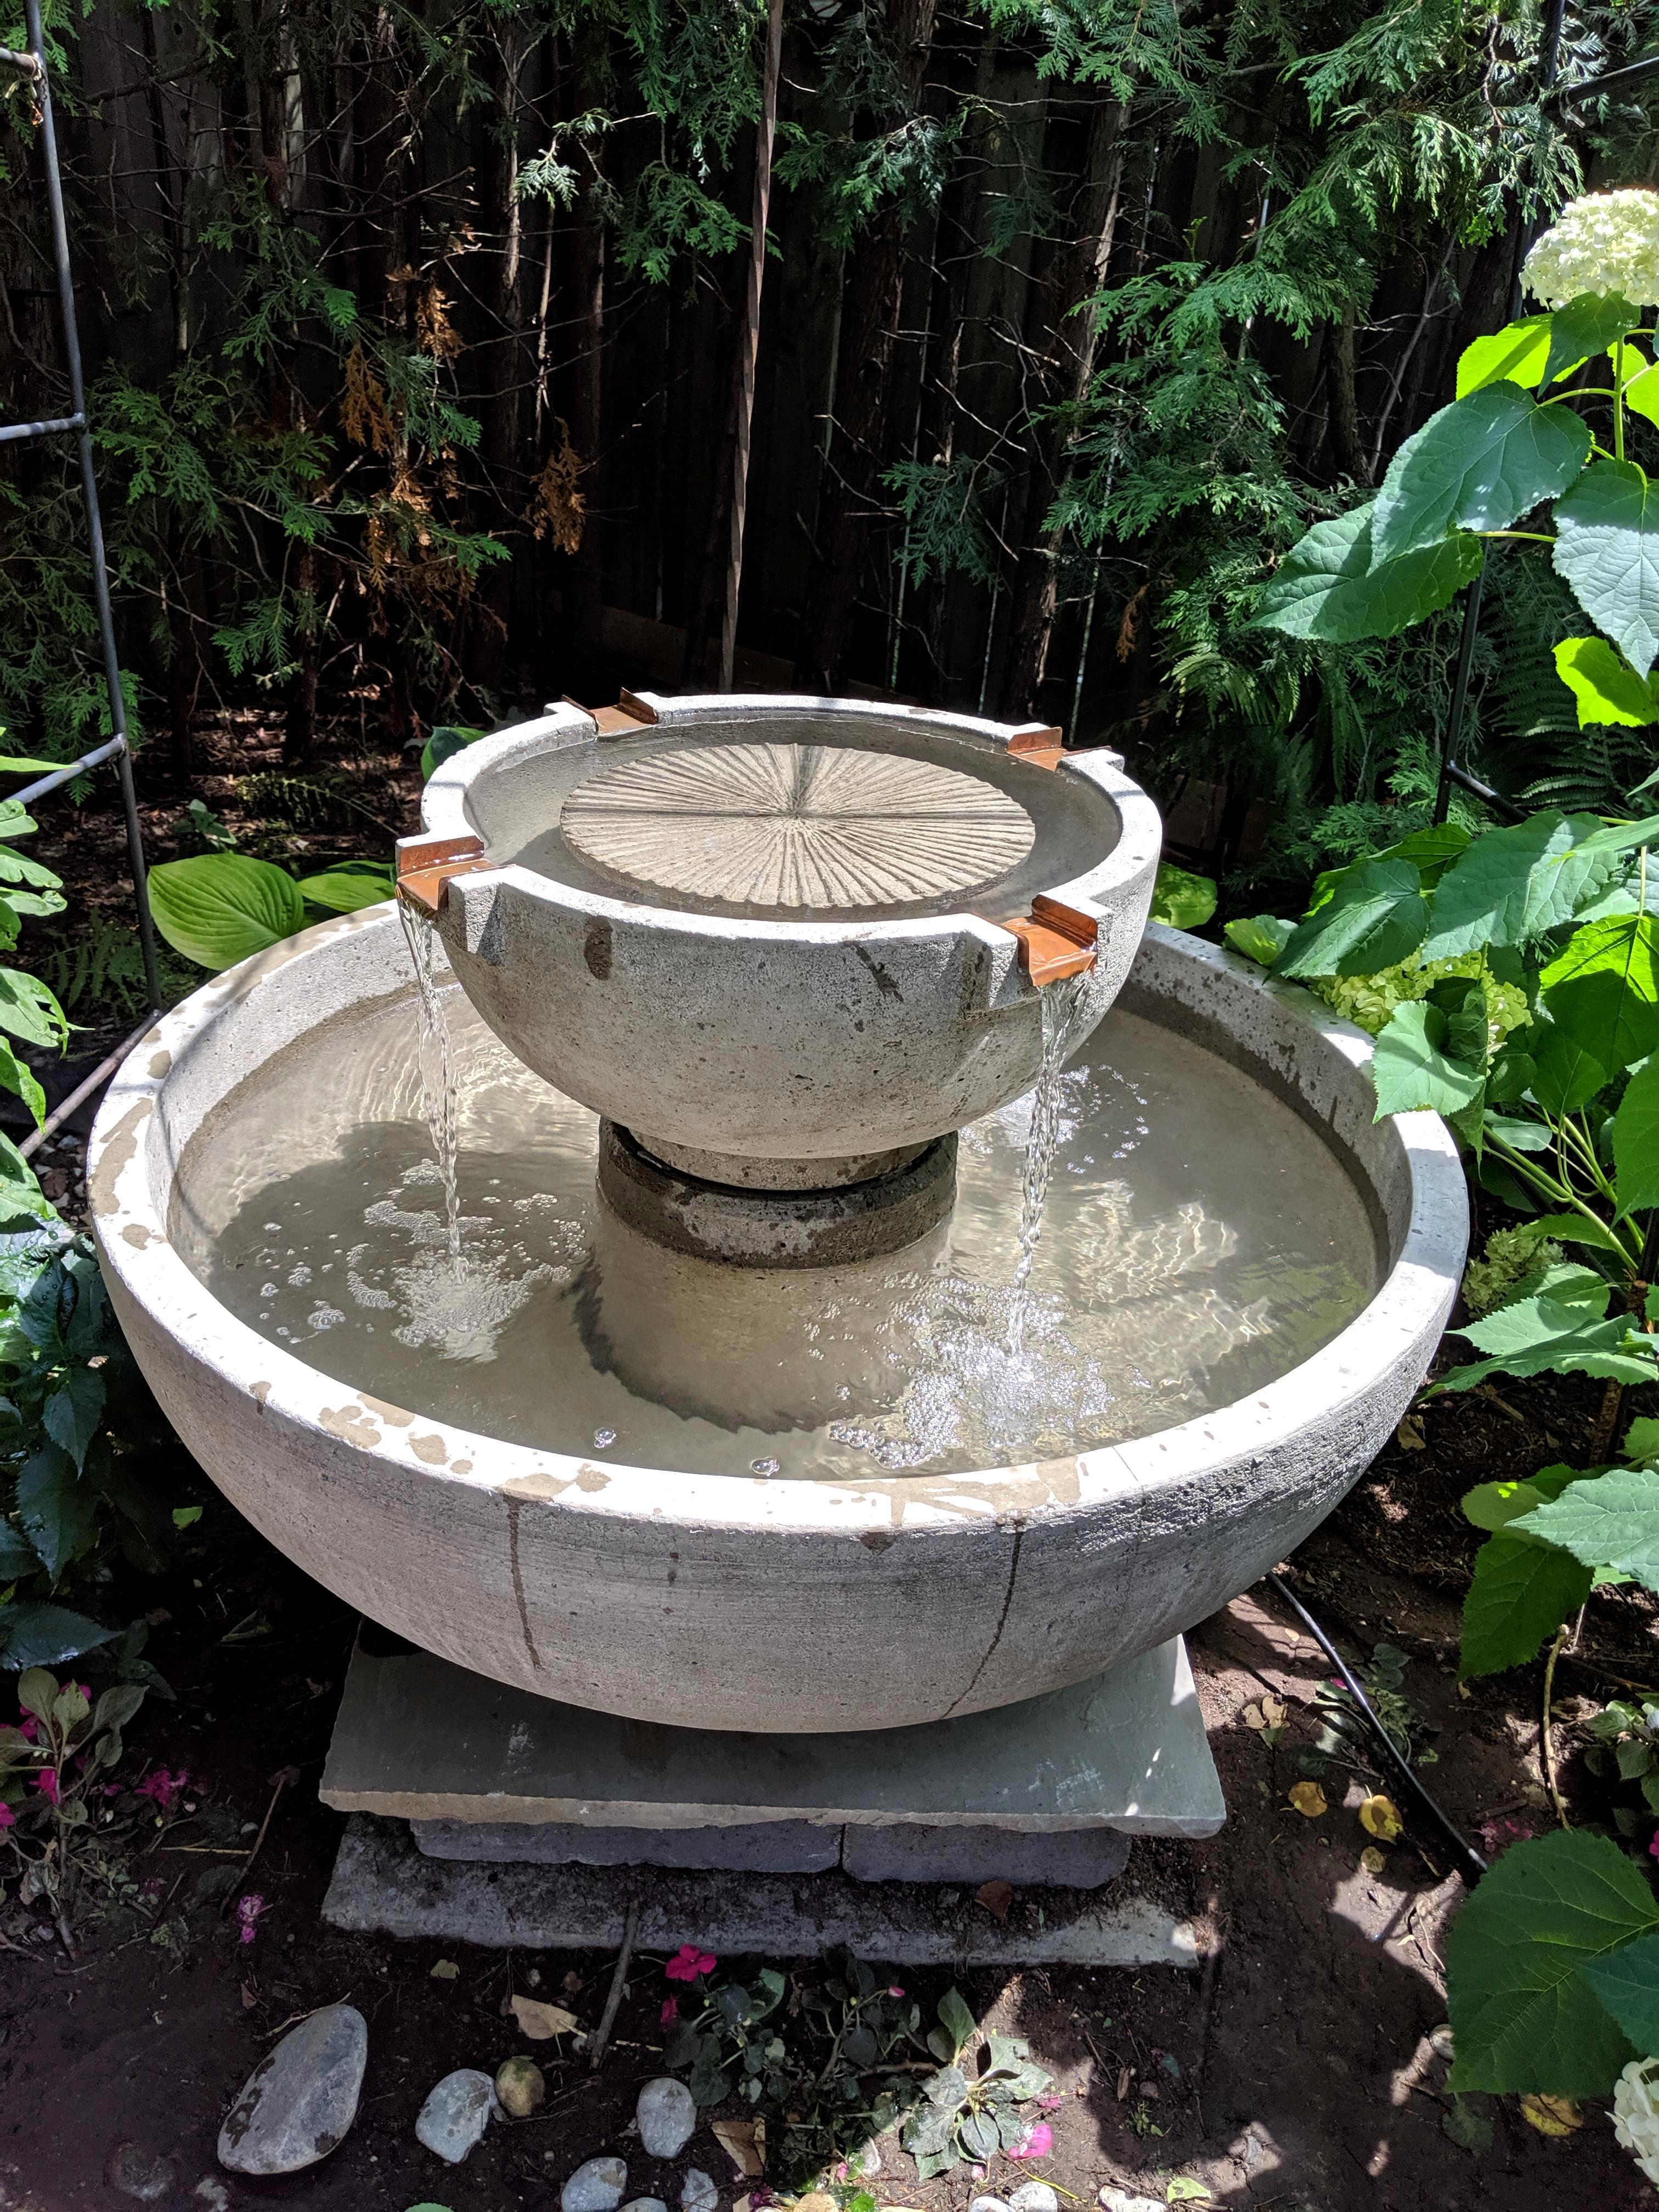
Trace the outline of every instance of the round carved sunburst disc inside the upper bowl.
{"type": "Polygon", "coordinates": [[[630,883],[743,907],[902,907],[1031,852],[993,783],[843,745],[701,745],[622,761],[564,801],[566,841],[630,883]]]}

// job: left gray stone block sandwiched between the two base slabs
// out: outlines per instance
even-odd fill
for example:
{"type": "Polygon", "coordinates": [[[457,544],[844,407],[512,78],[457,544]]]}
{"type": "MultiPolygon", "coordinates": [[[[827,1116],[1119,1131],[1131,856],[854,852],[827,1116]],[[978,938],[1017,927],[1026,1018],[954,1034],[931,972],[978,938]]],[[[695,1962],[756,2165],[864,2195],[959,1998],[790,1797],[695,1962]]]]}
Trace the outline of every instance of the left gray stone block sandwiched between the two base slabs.
{"type": "Polygon", "coordinates": [[[730,1867],[734,1874],[823,1874],[841,1860],[841,1827],[752,1820],[748,1827],[582,1827],[575,1820],[411,1820],[427,1858],[507,1867],[730,1867]]]}

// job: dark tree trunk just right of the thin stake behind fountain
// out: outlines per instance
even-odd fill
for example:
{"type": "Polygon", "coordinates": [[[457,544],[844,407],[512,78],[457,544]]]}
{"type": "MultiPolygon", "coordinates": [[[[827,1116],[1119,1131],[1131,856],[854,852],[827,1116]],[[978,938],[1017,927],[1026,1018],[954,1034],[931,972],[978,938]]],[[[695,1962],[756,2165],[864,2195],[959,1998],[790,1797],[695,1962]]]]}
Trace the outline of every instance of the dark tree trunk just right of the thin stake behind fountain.
{"type": "MultiPolygon", "coordinates": [[[[933,4],[936,0],[887,0],[887,33],[911,111],[920,102],[933,46],[933,4]]],[[[905,212],[887,206],[847,257],[836,420],[796,661],[796,679],[818,690],[834,688],[841,675],[865,573],[902,290],[905,212]]]]}

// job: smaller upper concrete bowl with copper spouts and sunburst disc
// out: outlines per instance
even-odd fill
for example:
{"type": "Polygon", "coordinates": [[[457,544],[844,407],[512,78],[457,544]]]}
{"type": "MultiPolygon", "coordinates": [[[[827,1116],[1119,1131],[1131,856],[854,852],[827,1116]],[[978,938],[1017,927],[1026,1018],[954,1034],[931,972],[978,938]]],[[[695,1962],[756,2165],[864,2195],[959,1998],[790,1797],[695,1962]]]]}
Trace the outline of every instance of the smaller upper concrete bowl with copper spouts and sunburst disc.
{"type": "Polygon", "coordinates": [[[495,1035],[672,1168],[865,1181],[1020,1097],[1141,940],[1161,825],[1117,754],[967,714],[624,692],[427,783],[400,889],[495,1035]]]}

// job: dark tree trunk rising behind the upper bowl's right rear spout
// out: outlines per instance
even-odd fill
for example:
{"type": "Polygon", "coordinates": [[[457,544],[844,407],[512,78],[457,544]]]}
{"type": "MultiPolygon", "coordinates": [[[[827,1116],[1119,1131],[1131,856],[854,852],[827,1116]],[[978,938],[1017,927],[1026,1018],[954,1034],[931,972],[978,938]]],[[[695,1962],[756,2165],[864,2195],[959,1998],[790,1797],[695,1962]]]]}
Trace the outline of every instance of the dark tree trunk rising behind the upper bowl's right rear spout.
{"type": "Polygon", "coordinates": [[[1064,531],[1046,526],[1048,509],[1071,478],[1071,425],[1066,411],[1088,398],[1095,378],[1097,327],[1084,303],[1106,283],[1106,265],[1117,234],[1119,186],[1124,177],[1124,124],[1128,106],[1102,100],[1088,117],[1084,173],[1073,201],[1073,241],[1055,272],[1055,310],[1048,361],[1040,378],[1040,405],[1062,409],[1040,425],[1035,467],[1026,491],[1024,542],[1031,549],[1020,568],[1002,684],[1011,719],[1035,710],[1048,666],[1048,644],[1060,606],[1060,546],[1064,531]]]}

